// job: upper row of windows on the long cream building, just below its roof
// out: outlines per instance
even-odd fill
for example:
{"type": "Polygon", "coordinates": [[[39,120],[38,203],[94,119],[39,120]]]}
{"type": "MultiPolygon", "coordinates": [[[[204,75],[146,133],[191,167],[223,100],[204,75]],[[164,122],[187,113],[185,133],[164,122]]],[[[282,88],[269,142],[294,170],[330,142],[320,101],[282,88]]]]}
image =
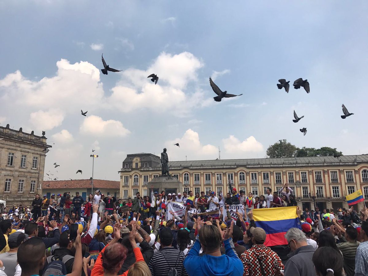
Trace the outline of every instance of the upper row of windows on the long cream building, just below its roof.
{"type": "MultiPolygon", "coordinates": [[[[195,173],[194,174],[194,183],[195,184],[199,184],[200,181],[200,174],[199,173],[195,173]]],[[[287,183],[295,183],[294,181],[294,172],[289,171],[287,173],[288,176],[288,182],[287,183]]],[[[355,182],[354,181],[354,173],[352,170],[348,170],[345,171],[345,176],[346,179],[345,181],[347,183],[349,182],[355,182]]],[[[153,177],[158,177],[158,175],[154,175],[153,177]]],[[[173,177],[176,177],[177,179],[179,179],[179,175],[178,174],[173,174],[173,177]]],[[[252,184],[258,184],[258,173],[251,173],[251,183],[252,184]]],[[[143,176],[143,181],[144,182],[148,182],[148,175],[144,175],[143,176]]],[[[139,180],[138,174],[135,174],[133,177],[133,182],[137,183],[139,180]]],[[[227,174],[227,180],[228,183],[233,184],[234,183],[234,174],[233,173],[228,173],[227,174]]],[[[307,171],[301,171],[300,172],[300,180],[301,183],[308,183],[308,177],[307,177],[307,171]]],[[[323,182],[323,178],[322,178],[322,171],[315,171],[314,172],[314,180],[315,183],[322,183],[323,182]]],[[[368,170],[364,169],[362,170],[362,180],[363,181],[368,181],[368,170]]],[[[129,181],[129,177],[128,176],[124,176],[124,182],[128,182],[129,181]]],[[[183,181],[184,184],[189,184],[189,173],[184,173],[183,175],[183,181]]],[[[330,171],[330,182],[331,183],[338,183],[339,182],[339,177],[338,177],[338,173],[337,171],[330,171]]],[[[211,173],[205,173],[205,183],[206,184],[211,184],[211,173]]],[[[239,183],[243,184],[245,183],[245,173],[243,171],[241,171],[239,173],[239,183]]],[[[263,183],[264,184],[268,184],[270,183],[270,178],[269,178],[269,173],[263,173],[263,183]]],[[[275,173],[275,183],[276,184],[281,184],[282,183],[282,175],[281,172],[276,172],[275,173]]],[[[222,184],[222,173],[216,173],[216,184],[222,184]]]]}

